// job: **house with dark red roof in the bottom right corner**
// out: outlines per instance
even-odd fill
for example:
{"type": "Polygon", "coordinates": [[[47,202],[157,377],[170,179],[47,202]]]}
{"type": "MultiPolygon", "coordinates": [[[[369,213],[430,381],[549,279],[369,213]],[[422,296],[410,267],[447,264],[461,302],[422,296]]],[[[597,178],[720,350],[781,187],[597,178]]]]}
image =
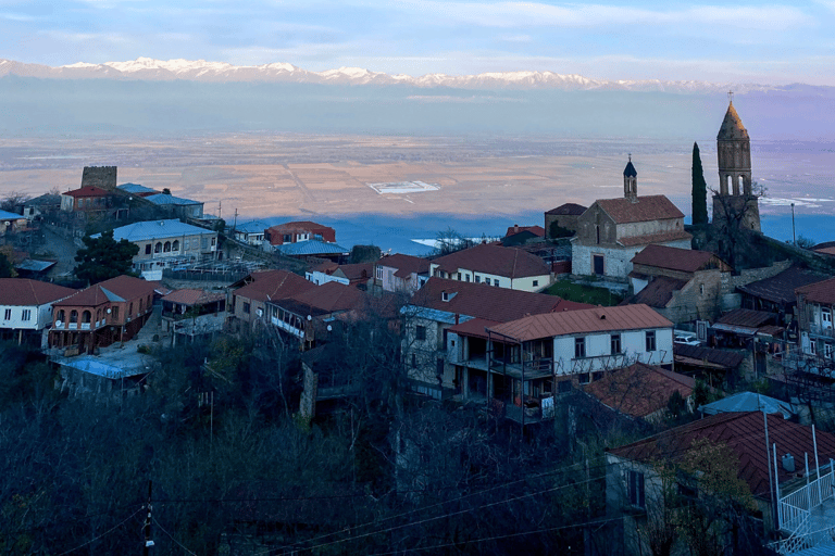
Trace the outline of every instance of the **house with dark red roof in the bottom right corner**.
{"type": "MultiPolygon", "coordinates": [[[[832,543],[827,516],[835,511],[831,486],[835,435],[792,422],[781,413],[740,412],[711,415],[607,451],[607,517],[622,523],[618,529],[624,554],[651,554],[638,531],[658,519],[666,504],[672,504],[671,511],[687,508],[688,498],[699,504],[700,482],[714,472],[716,458],[730,465],[741,488],[750,492],[763,544],[772,534],[784,539],[770,543],[774,554],[832,543]],[[702,457],[694,458],[696,453],[702,457]],[[685,472],[681,464],[686,459],[702,460],[706,468],[685,472]],[[675,472],[662,479],[659,469],[675,472]]],[[[711,494],[715,493],[706,493],[711,494]]],[[[723,544],[732,541],[728,535],[723,544]]]]}

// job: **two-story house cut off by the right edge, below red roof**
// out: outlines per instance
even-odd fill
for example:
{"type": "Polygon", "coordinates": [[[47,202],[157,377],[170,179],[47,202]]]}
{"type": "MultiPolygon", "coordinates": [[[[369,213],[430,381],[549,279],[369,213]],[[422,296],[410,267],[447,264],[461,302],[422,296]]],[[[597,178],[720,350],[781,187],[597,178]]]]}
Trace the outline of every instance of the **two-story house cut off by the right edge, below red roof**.
{"type": "Polygon", "coordinates": [[[800,342],[806,355],[835,359],[835,278],[795,290],[799,316],[800,342]]]}

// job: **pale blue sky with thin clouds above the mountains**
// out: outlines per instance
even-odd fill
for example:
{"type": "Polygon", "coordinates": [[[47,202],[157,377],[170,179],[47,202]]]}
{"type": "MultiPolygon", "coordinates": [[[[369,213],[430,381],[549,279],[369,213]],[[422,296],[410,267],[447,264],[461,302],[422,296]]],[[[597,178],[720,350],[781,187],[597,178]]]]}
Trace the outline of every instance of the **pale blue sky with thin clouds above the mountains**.
{"type": "Polygon", "coordinates": [[[835,85],[835,0],[0,0],[0,58],[835,85]],[[173,4],[173,5],[170,5],[173,4]]]}

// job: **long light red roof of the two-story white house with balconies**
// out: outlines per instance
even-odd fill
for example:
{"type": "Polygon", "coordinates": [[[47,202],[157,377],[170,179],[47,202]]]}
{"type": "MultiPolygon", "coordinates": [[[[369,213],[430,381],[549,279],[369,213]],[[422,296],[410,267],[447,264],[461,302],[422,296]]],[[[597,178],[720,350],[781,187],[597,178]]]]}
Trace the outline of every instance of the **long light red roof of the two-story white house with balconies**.
{"type": "Polygon", "coordinates": [[[622,305],[533,315],[504,323],[490,330],[518,341],[527,341],[564,334],[672,326],[670,320],[647,305],[622,305]]]}

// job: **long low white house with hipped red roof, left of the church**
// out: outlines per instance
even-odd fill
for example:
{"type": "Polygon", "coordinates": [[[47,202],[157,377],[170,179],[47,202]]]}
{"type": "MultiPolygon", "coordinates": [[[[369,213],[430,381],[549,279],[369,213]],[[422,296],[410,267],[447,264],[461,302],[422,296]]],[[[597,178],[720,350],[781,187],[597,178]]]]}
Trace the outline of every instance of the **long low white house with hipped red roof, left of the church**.
{"type": "Polygon", "coordinates": [[[538,256],[521,249],[485,243],[432,261],[429,275],[532,292],[544,290],[552,278],[550,268],[538,256]]]}

